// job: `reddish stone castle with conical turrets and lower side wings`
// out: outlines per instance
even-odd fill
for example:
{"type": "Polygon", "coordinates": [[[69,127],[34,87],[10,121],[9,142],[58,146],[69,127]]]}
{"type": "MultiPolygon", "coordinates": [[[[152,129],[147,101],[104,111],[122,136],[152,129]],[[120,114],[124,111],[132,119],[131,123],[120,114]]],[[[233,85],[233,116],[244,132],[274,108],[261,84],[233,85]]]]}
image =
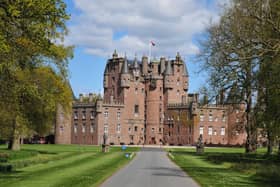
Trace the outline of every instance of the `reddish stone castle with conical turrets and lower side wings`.
{"type": "Polygon", "coordinates": [[[104,71],[103,98],[93,94],[73,101],[72,112],[59,107],[55,141],[58,144],[241,145],[244,106],[200,104],[188,93],[189,74],[179,53],[175,59],[128,60],[116,51],[104,71]]]}

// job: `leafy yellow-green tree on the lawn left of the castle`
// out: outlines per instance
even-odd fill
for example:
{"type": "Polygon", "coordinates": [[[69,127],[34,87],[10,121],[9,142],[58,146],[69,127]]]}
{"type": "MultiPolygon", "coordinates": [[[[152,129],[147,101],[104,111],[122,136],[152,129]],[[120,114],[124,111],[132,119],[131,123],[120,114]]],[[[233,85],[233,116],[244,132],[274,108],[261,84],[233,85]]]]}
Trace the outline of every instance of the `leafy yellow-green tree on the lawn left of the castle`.
{"type": "Polygon", "coordinates": [[[1,1],[0,114],[13,150],[20,148],[22,129],[43,129],[38,125],[50,121],[57,102],[68,102],[63,99],[69,97],[66,78],[72,47],[59,42],[67,34],[68,19],[62,0],[1,1]],[[55,99],[58,91],[65,97],[55,99]]]}

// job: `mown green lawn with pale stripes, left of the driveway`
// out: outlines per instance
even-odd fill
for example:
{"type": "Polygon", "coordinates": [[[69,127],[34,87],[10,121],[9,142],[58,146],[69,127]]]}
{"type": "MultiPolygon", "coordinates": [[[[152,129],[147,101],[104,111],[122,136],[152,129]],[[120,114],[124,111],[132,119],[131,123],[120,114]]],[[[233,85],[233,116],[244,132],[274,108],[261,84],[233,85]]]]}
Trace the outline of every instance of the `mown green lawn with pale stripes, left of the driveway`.
{"type": "MultiPolygon", "coordinates": [[[[135,151],[138,148],[125,152],[135,151]]],[[[97,186],[129,162],[125,152],[112,147],[102,153],[98,146],[79,145],[23,145],[11,152],[0,146],[0,154],[7,153],[13,166],[12,172],[0,172],[0,186],[97,186]]]]}

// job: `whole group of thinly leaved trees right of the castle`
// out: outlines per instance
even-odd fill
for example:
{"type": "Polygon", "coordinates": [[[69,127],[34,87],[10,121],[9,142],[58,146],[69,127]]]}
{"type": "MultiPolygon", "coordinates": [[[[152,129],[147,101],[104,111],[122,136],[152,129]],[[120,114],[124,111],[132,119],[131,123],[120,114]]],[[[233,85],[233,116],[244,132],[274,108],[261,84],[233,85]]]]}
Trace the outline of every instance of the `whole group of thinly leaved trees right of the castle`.
{"type": "Polygon", "coordinates": [[[280,151],[280,1],[231,1],[208,27],[198,57],[212,92],[245,102],[246,153],[257,149],[257,129],[265,131],[268,154],[277,140],[280,151]]]}

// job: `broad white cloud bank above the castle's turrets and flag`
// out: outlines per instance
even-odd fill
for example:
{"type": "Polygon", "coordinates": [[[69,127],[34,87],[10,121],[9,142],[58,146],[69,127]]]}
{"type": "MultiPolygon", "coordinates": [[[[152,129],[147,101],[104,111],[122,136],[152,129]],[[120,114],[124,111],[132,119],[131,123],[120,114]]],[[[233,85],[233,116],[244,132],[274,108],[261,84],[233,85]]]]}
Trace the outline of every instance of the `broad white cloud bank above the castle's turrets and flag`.
{"type": "Polygon", "coordinates": [[[148,54],[148,43],[155,41],[155,55],[175,56],[198,52],[194,34],[207,23],[218,20],[213,9],[220,0],[74,0],[67,44],[82,46],[87,53],[105,56],[114,49],[129,55],[148,54]],[[122,34],[118,34],[122,33],[122,34]]]}

